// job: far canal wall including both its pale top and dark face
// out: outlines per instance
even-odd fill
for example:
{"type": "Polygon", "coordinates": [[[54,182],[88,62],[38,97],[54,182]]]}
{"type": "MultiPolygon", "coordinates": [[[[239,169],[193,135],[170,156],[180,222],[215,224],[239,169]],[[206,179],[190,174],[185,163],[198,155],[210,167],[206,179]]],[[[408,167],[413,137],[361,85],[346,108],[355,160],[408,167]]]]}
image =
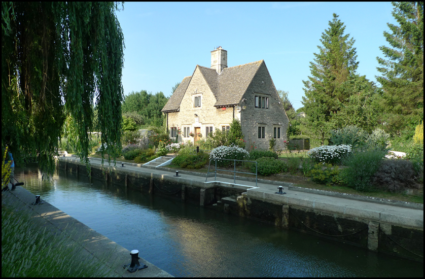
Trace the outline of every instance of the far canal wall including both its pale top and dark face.
{"type": "MultiPolygon", "coordinates": [[[[205,182],[205,176],[189,173],[175,177],[170,169],[119,165],[102,166],[93,160],[91,179],[122,184],[141,193],[199,204],[370,251],[423,261],[423,205],[399,207],[304,192],[296,192],[291,197],[275,194],[277,187],[271,181],[259,183],[259,187],[248,186],[248,182],[236,184],[233,179],[223,182],[223,178],[222,182],[211,181],[214,178],[205,182]]],[[[57,168],[77,177],[88,176],[86,166],[76,158],[61,157],[57,168]]]]}

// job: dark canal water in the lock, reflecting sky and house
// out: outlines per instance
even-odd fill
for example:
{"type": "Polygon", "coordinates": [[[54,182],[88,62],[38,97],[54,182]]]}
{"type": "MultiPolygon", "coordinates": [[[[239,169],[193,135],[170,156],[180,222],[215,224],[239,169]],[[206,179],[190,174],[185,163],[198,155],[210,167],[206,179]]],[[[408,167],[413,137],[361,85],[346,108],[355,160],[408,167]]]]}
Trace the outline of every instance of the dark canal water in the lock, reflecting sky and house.
{"type": "MultiPolygon", "coordinates": [[[[423,277],[423,264],[59,170],[25,189],[177,277],[423,277]]],[[[143,271],[141,271],[143,272],[143,271]]]]}

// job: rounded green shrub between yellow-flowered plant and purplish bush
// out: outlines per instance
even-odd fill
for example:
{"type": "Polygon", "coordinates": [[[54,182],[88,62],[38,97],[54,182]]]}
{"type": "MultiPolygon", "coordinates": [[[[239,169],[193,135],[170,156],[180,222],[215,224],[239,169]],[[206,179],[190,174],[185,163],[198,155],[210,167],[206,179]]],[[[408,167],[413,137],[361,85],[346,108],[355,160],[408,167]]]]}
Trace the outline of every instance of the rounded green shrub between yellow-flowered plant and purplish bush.
{"type": "Polygon", "coordinates": [[[359,191],[371,190],[371,179],[378,170],[385,150],[378,148],[356,150],[342,158],[342,163],[348,166],[345,172],[347,186],[359,191]]]}

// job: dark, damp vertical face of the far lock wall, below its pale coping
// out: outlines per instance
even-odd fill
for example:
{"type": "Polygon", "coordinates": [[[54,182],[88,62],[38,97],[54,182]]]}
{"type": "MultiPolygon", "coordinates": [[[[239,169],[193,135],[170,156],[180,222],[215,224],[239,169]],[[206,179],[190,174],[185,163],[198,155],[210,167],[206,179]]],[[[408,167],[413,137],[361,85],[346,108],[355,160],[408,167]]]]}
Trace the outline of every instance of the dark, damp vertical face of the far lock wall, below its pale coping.
{"type": "MultiPolygon", "coordinates": [[[[62,161],[58,169],[87,176],[85,165],[62,161]]],[[[92,166],[91,179],[121,183],[140,192],[171,197],[226,213],[240,215],[282,229],[291,229],[316,236],[384,252],[404,258],[423,261],[422,228],[377,222],[364,217],[330,213],[308,206],[285,204],[249,196],[245,189],[225,187],[220,182],[203,183],[191,179],[158,175],[150,169],[118,169],[113,166],[92,166]],[[237,196],[236,202],[222,202],[224,197],[237,196]]],[[[251,194],[253,195],[253,194],[251,194]]],[[[403,223],[403,222],[401,222],[403,223]]]]}

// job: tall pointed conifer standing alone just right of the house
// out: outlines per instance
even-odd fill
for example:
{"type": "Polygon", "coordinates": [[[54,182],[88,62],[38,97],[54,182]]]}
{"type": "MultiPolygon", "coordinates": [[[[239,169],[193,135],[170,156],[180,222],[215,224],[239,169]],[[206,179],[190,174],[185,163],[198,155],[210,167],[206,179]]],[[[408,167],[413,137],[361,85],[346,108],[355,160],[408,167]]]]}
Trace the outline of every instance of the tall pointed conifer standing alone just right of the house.
{"type": "Polygon", "coordinates": [[[359,62],[356,61],[354,39],[344,35],[345,26],[333,14],[329,28],[322,33],[320,52],[314,53],[314,62],[310,62],[311,76],[304,83],[303,105],[307,127],[306,134],[318,136],[322,144],[334,127],[331,119],[343,107],[350,96],[346,82],[355,77],[359,62]]]}

